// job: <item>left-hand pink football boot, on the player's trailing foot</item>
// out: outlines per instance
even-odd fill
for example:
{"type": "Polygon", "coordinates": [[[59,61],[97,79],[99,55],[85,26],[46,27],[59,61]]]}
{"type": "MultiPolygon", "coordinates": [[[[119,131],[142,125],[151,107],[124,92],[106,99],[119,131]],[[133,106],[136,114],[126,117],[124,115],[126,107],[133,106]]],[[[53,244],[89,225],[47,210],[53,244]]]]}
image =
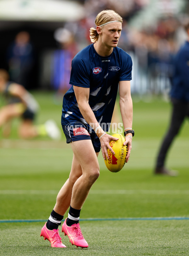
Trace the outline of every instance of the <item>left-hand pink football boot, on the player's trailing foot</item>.
{"type": "MultiPolygon", "coordinates": [[[[46,222],[47,223],[47,222],[46,222]]],[[[46,227],[46,223],[44,224],[43,228],[41,229],[41,235],[44,237],[44,240],[49,240],[51,243],[51,247],[61,247],[66,248],[66,245],[64,245],[61,240],[62,238],[59,235],[58,229],[49,230],[46,227]]]]}

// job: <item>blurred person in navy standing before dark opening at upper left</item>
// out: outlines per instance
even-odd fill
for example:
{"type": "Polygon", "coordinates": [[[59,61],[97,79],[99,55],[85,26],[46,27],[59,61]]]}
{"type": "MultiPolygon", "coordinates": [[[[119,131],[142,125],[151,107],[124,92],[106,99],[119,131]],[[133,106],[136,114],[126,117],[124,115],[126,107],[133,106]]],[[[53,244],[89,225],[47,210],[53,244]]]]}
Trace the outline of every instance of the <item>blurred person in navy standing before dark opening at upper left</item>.
{"type": "Polygon", "coordinates": [[[33,68],[33,46],[30,34],[26,31],[19,32],[7,52],[10,79],[29,88],[31,71],[33,68]]]}

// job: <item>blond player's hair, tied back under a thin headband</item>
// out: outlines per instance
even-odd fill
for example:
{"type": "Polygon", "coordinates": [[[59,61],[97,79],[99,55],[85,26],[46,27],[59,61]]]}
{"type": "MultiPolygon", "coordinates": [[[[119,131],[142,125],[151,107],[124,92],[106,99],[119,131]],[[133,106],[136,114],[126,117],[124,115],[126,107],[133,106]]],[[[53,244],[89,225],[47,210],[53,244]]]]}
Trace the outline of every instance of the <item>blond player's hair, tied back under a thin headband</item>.
{"type": "MultiPolygon", "coordinates": [[[[113,10],[103,10],[101,11],[95,19],[95,25],[100,26],[106,22],[117,20],[119,22],[123,22],[122,17],[113,10]]],[[[90,28],[90,39],[92,43],[95,43],[98,41],[99,34],[96,31],[96,28],[91,27],[90,28]]]]}

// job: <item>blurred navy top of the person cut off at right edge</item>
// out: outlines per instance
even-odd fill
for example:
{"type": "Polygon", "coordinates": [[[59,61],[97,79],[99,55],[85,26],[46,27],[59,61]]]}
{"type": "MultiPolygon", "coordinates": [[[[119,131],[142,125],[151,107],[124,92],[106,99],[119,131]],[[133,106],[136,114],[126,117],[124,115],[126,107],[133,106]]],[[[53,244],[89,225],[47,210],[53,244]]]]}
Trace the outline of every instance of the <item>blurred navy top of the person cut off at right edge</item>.
{"type": "Polygon", "coordinates": [[[189,102],[189,42],[175,56],[174,75],[170,91],[172,98],[189,102]]]}

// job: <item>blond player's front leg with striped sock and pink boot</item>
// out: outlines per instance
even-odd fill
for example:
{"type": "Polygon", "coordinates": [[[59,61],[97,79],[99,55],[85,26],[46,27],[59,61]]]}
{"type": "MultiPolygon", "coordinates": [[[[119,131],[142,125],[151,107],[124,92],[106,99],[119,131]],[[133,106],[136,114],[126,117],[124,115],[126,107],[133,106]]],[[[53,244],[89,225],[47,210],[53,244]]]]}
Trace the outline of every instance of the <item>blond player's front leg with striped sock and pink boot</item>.
{"type": "Polygon", "coordinates": [[[98,153],[95,153],[91,140],[72,142],[71,145],[74,155],[82,168],[82,175],[73,185],[70,210],[68,218],[62,225],[62,232],[69,237],[72,244],[86,248],[89,245],[82,235],[79,215],[90,188],[100,174],[97,160],[98,153]]]}

